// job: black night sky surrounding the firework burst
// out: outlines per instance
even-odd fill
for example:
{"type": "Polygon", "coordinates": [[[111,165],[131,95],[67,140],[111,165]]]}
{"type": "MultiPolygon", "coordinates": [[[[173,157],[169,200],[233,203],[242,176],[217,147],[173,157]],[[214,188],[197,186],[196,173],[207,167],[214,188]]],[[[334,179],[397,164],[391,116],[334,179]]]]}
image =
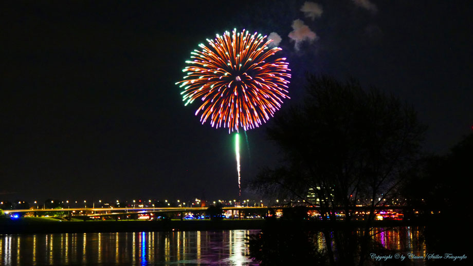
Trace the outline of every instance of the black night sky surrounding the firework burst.
{"type": "MultiPolygon", "coordinates": [[[[304,1],[1,2],[0,199],[236,198],[233,135],[201,125],[174,85],[199,43],[234,27],[282,37],[283,109],[306,72],[331,74],[413,104],[427,152],[470,132],[473,2],[315,3],[312,20],[304,1]],[[297,19],[317,35],[299,50],[297,19]]],[[[247,132],[244,181],[278,162],[266,126],[247,132]]]]}

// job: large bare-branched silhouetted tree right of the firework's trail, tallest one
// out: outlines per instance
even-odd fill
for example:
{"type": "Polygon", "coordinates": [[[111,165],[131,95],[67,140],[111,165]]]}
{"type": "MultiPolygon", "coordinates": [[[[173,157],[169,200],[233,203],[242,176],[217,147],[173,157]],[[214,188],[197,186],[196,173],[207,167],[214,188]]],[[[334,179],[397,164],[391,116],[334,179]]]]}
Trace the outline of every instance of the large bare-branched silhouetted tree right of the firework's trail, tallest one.
{"type": "Polygon", "coordinates": [[[261,194],[320,205],[332,222],[330,214],[340,209],[349,224],[355,205],[370,206],[360,242],[350,225],[344,231],[323,231],[331,264],[362,265],[375,206],[396,196],[416,166],[426,127],[412,106],[375,88],[364,90],[354,80],[341,83],[311,75],[307,95],[302,106],[281,113],[268,128],[268,138],[281,148],[284,160],[264,169],[252,187],[261,194]],[[306,197],[310,188],[314,199],[306,197]]]}

